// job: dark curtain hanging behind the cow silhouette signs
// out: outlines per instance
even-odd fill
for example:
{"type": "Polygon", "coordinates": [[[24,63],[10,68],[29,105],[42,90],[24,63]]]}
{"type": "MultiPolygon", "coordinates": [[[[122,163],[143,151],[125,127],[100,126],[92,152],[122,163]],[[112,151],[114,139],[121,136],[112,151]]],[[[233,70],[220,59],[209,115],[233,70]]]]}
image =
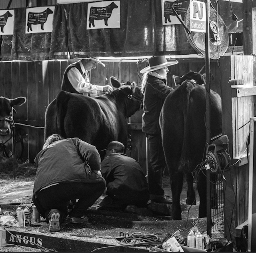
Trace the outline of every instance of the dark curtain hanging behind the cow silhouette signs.
{"type": "MultiPolygon", "coordinates": [[[[109,1],[108,1],[109,2],[109,1]]],[[[232,20],[230,3],[218,1],[228,32],[242,32],[232,20]]],[[[214,6],[214,5],[213,5],[214,6]]],[[[214,8],[216,8],[216,4],[214,8]]],[[[242,3],[232,9],[242,19],[242,3]]],[[[52,33],[26,34],[26,8],[15,9],[14,35],[1,36],[2,60],[48,60],[90,56],[147,56],[195,54],[184,27],[162,25],[160,0],[121,0],[120,28],[86,30],[88,3],[55,6],[52,33]]],[[[242,46],[228,52],[242,51],[242,46]]]]}

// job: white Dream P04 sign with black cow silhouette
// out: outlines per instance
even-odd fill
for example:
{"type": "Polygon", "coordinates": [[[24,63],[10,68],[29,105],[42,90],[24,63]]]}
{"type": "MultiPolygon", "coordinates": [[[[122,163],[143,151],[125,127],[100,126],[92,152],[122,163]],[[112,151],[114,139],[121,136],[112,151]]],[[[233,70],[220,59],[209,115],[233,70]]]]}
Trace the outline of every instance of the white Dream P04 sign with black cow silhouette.
{"type": "Polygon", "coordinates": [[[54,6],[26,9],[26,34],[52,32],[54,6]]]}

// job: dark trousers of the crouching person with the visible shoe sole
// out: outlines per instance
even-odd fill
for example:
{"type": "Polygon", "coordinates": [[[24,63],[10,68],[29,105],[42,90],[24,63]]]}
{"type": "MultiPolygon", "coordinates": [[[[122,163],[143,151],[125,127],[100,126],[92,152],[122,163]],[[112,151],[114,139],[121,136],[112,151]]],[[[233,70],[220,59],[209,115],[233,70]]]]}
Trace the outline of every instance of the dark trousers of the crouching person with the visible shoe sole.
{"type": "Polygon", "coordinates": [[[70,213],[71,217],[80,218],[86,214],[88,207],[102,195],[106,182],[98,183],[59,183],[52,185],[33,196],[33,202],[42,217],[48,221],[51,209],[60,211],[60,219],[64,221],[67,215],[67,207],[70,200],[79,199],[70,213]]]}

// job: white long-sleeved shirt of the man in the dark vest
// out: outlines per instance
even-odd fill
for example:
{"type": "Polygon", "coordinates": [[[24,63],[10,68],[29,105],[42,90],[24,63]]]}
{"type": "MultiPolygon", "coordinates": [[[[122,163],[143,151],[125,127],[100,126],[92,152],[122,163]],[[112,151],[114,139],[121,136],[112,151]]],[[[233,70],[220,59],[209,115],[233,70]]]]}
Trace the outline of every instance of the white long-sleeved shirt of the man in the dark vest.
{"type": "Polygon", "coordinates": [[[100,85],[92,85],[90,83],[90,78],[88,71],[85,70],[84,65],[79,61],[83,75],[77,68],[71,68],[68,71],[68,80],[74,87],[74,89],[79,93],[97,93],[98,91],[103,91],[103,87],[100,85]]]}

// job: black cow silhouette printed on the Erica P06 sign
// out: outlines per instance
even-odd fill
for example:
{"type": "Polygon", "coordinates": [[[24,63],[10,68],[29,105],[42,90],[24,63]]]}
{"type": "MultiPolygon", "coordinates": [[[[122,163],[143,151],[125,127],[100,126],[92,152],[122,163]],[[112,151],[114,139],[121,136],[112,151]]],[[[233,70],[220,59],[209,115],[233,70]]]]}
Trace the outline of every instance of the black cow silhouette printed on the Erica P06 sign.
{"type": "Polygon", "coordinates": [[[105,25],[108,25],[108,19],[110,18],[113,9],[118,8],[118,6],[112,2],[108,6],[105,7],[91,7],[90,8],[90,16],[89,16],[89,27],[91,25],[94,27],[94,20],[102,20],[104,19],[105,25]]]}

